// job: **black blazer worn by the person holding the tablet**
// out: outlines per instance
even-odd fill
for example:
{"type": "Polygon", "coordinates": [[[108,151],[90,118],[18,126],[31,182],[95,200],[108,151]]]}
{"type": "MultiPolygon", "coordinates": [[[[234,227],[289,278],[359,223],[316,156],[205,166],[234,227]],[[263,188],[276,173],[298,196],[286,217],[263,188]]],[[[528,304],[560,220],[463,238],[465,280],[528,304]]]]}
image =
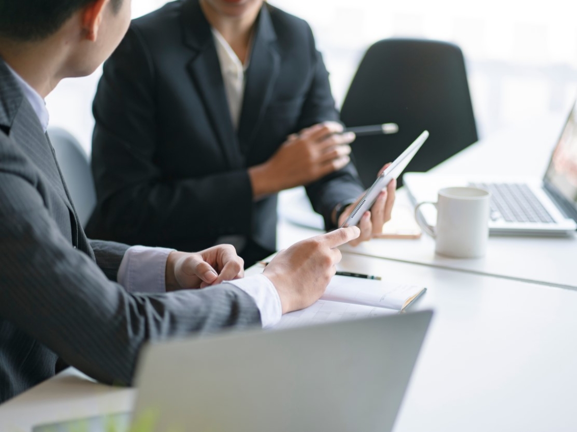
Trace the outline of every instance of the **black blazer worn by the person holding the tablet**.
{"type": "MultiPolygon", "coordinates": [[[[248,167],[268,160],[287,135],[339,117],[309,25],[269,5],[256,25],[235,131],[198,0],[132,22],[104,65],[93,106],[91,236],[198,250],[242,234],[275,249],[276,195],[253,202],[248,167]]],[[[349,164],[307,192],[332,228],[336,204],[362,187],[349,164]]]]}

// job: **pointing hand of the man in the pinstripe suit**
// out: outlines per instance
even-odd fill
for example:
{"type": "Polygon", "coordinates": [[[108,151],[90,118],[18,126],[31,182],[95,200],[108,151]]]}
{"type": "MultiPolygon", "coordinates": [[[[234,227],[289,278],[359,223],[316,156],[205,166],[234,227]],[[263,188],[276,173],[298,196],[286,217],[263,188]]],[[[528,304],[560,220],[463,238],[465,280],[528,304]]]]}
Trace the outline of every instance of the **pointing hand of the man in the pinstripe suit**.
{"type": "Polygon", "coordinates": [[[340,262],[338,246],[358,237],[356,226],[299,241],[280,251],[264,269],[279,293],[283,313],[303,309],[319,300],[340,262]]]}

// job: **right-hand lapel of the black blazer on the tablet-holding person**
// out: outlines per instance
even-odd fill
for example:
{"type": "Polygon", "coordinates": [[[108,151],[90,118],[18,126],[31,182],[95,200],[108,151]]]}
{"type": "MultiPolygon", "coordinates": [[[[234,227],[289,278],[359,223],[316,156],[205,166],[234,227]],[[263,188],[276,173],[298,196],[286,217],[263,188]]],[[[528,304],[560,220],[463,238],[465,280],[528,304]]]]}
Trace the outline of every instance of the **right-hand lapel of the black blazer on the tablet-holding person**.
{"type": "Polygon", "coordinates": [[[238,138],[243,151],[263,121],[280,70],[280,54],[276,47],[276,33],[268,6],[264,5],[258,17],[250,65],[246,71],[245,96],[242,102],[238,138]]]}

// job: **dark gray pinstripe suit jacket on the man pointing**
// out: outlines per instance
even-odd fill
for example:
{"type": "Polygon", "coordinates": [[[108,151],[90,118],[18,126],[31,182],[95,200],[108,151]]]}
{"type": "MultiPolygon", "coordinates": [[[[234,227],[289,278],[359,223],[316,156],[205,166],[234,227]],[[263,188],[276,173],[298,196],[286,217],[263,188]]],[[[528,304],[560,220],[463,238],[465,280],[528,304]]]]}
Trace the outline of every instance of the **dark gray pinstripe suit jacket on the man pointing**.
{"type": "Polygon", "coordinates": [[[230,285],[129,294],[128,246],[88,240],[40,122],[0,59],[0,402],[54,375],[58,357],[129,384],[146,340],[260,322],[230,285]]]}

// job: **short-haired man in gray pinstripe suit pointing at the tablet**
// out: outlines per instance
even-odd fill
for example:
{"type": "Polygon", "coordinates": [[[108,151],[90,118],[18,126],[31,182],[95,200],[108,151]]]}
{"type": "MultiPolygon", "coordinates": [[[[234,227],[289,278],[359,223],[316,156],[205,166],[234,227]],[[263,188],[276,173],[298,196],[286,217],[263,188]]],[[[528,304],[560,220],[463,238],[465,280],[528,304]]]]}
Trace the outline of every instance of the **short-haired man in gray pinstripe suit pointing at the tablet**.
{"type": "Polygon", "coordinates": [[[320,297],[336,247],[359,235],[300,242],[246,279],[227,246],[183,253],[88,240],[43,98],[60,79],[92,73],[129,20],[130,0],[0,1],[0,402],[62,364],[130,384],[147,340],[272,325],[320,297]]]}

